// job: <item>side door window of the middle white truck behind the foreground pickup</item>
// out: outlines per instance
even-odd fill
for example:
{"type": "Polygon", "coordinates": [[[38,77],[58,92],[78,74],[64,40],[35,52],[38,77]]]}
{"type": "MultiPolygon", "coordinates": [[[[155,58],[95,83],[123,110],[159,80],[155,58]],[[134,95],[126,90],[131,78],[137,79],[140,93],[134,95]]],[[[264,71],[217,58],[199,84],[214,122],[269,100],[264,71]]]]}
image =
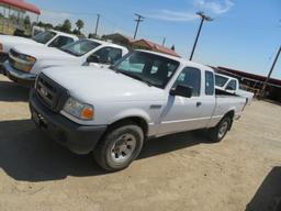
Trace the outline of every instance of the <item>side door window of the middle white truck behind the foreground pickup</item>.
{"type": "Polygon", "coordinates": [[[122,49],[116,47],[102,47],[94,53],[102,64],[114,64],[122,57],[122,49]]]}

